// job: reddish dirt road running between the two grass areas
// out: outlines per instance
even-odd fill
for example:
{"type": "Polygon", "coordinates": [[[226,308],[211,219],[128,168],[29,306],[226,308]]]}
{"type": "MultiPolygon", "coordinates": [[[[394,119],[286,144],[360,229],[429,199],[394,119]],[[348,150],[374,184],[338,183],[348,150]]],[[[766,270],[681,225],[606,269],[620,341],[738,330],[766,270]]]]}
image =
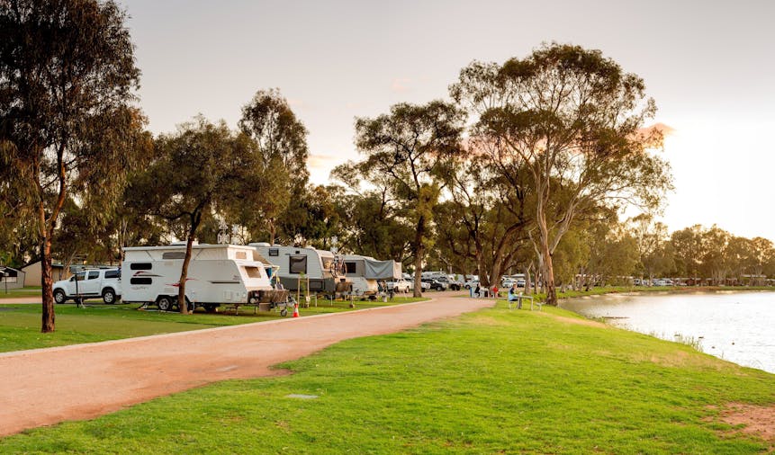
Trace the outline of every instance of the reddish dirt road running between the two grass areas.
{"type": "Polygon", "coordinates": [[[272,376],[277,372],[270,366],[341,340],[389,334],[494,303],[446,292],[432,297],[349,313],[0,353],[0,436],[104,415],[217,380],[272,376]]]}

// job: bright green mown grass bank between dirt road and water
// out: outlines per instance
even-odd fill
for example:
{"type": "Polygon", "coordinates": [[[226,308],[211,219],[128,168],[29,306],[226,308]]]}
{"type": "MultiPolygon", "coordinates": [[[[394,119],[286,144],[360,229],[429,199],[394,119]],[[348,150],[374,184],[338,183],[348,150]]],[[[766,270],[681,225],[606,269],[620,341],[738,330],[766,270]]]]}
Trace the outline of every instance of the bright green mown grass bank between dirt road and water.
{"type": "Polygon", "coordinates": [[[483,310],[0,440],[0,452],[758,453],[717,422],[775,375],[556,308],[483,310]],[[317,395],[302,400],[290,394],[317,395]]]}

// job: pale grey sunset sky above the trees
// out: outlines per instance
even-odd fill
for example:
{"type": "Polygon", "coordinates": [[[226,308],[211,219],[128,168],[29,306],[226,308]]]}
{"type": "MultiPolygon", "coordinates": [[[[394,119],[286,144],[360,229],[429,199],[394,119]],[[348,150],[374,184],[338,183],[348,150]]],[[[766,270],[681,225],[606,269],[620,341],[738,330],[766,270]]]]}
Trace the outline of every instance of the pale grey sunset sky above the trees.
{"type": "Polygon", "coordinates": [[[313,183],[357,159],[356,117],[447,99],[473,60],[542,42],[599,49],[644,79],[674,130],[660,152],[671,231],[716,224],[775,241],[775,1],[118,0],[155,134],[201,113],[237,127],[277,87],[309,129],[313,183]]]}

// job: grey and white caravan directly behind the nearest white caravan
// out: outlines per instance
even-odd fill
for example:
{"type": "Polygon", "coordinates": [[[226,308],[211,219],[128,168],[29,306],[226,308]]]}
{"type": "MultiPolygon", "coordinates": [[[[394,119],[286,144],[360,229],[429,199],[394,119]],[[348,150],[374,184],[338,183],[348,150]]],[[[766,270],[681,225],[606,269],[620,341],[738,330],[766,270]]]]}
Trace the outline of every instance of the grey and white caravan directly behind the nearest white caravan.
{"type": "Polygon", "coordinates": [[[267,243],[248,246],[254,248],[256,260],[280,267],[277,275],[287,290],[301,288],[328,295],[350,291],[350,281],[343,276],[341,264],[330,251],[267,243]]]}

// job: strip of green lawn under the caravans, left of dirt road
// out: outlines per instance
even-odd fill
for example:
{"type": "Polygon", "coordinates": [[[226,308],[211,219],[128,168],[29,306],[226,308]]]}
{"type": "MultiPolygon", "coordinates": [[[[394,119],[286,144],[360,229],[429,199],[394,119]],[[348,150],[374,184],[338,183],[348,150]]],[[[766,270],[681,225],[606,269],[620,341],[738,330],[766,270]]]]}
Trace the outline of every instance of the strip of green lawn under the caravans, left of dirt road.
{"type": "MultiPolygon", "coordinates": [[[[356,301],[355,309],[418,300],[422,299],[396,297],[387,303],[356,301]]],[[[137,308],[140,305],[136,304],[102,305],[97,302],[101,300],[87,302],[86,308],[77,308],[72,303],[55,306],[57,330],[53,334],[41,334],[40,305],[0,305],[0,352],[184,332],[217,326],[235,326],[280,317],[280,314],[275,311],[258,311],[254,314],[251,307],[239,308],[239,315],[235,315],[234,310],[226,310],[218,314],[197,310],[193,315],[181,315],[172,312],[161,313],[154,311],[153,308],[149,311],[138,311],[137,308]]],[[[329,301],[320,299],[317,308],[314,306],[301,308],[299,312],[304,317],[352,309],[349,308],[349,302],[339,300],[331,304],[329,301]]],[[[293,313],[293,310],[289,313],[293,313]]]]}

